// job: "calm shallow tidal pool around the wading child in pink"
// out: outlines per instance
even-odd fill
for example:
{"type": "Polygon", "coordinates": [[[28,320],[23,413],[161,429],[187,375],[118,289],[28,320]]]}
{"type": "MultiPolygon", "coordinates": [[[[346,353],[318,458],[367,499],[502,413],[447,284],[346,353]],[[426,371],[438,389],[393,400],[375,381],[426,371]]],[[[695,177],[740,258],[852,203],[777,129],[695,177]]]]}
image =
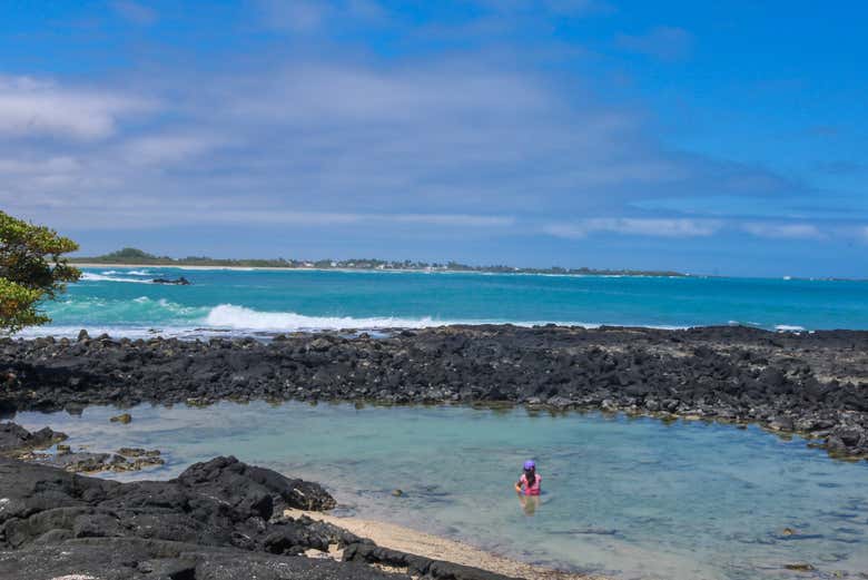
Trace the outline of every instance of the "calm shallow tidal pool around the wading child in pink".
{"type": "Polygon", "coordinates": [[[806,574],[783,566],[802,561],[823,578],[868,570],[868,462],[754,427],[303,403],[141,405],[128,425],[110,423],[116,413],[16,421],[65,431],[73,448],[162,450],[168,464],[137,478],[235,454],[326,482],[344,513],[617,578],[795,579],[806,574]],[[544,490],[533,515],[512,490],[529,456],[544,490]]]}

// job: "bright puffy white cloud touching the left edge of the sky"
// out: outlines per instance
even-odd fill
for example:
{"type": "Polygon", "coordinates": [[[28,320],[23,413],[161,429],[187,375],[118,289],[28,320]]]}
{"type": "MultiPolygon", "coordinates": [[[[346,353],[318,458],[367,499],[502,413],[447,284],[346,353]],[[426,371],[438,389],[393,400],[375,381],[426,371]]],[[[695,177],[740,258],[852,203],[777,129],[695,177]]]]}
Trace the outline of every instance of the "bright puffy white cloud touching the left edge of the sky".
{"type": "Polygon", "coordinates": [[[141,98],[0,76],[0,135],[100,139],[115,134],[120,117],[150,108],[141,98]]]}

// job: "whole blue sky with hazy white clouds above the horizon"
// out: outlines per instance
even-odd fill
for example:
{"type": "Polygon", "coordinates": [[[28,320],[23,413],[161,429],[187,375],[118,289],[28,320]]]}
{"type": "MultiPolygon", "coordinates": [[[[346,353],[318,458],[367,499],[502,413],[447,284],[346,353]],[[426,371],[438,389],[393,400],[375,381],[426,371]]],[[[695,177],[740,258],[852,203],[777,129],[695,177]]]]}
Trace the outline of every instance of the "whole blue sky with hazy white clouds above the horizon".
{"type": "Polygon", "coordinates": [[[868,4],[0,0],[0,209],[183,257],[868,277],[868,4]]]}

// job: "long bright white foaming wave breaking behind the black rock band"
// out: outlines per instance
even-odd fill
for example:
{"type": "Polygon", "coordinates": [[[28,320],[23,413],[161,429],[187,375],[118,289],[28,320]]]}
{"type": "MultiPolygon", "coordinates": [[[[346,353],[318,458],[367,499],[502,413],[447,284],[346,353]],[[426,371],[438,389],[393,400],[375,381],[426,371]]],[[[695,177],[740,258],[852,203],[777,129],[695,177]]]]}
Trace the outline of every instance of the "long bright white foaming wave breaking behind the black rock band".
{"type": "Polygon", "coordinates": [[[422,318],[396,318],[392,316],[354,318],[352,316],[305,316],[294,312],[260,312],[233,304],[220,304],[208,313],[208,326],[238,331],[310,331],[339,328],[424,328],[454,324],[422,318]]]}

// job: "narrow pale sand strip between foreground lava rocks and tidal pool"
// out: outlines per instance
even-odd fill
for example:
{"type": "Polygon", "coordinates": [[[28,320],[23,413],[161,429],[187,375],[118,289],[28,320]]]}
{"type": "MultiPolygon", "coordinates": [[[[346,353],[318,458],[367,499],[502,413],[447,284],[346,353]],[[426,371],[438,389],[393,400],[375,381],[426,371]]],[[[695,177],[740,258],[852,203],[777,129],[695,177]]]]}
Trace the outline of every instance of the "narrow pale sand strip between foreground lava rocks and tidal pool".
{"type": "Polygon", "coordinates": [[[394,523],[361,520],[358,518],[337,518],[327,513],[302,510],[286,510],[284,514],[289,518],[307,515],[313,520],[333,523],[356,535],[368,538],[383,548],[423,556],[434,560],[472,566],[505,576],[527,578],[529,580],[605,580],[603,577],[560,572],[549,568],[531,566],[489,553],[455,540],[418,532],[395,525],[394,523]]]}

